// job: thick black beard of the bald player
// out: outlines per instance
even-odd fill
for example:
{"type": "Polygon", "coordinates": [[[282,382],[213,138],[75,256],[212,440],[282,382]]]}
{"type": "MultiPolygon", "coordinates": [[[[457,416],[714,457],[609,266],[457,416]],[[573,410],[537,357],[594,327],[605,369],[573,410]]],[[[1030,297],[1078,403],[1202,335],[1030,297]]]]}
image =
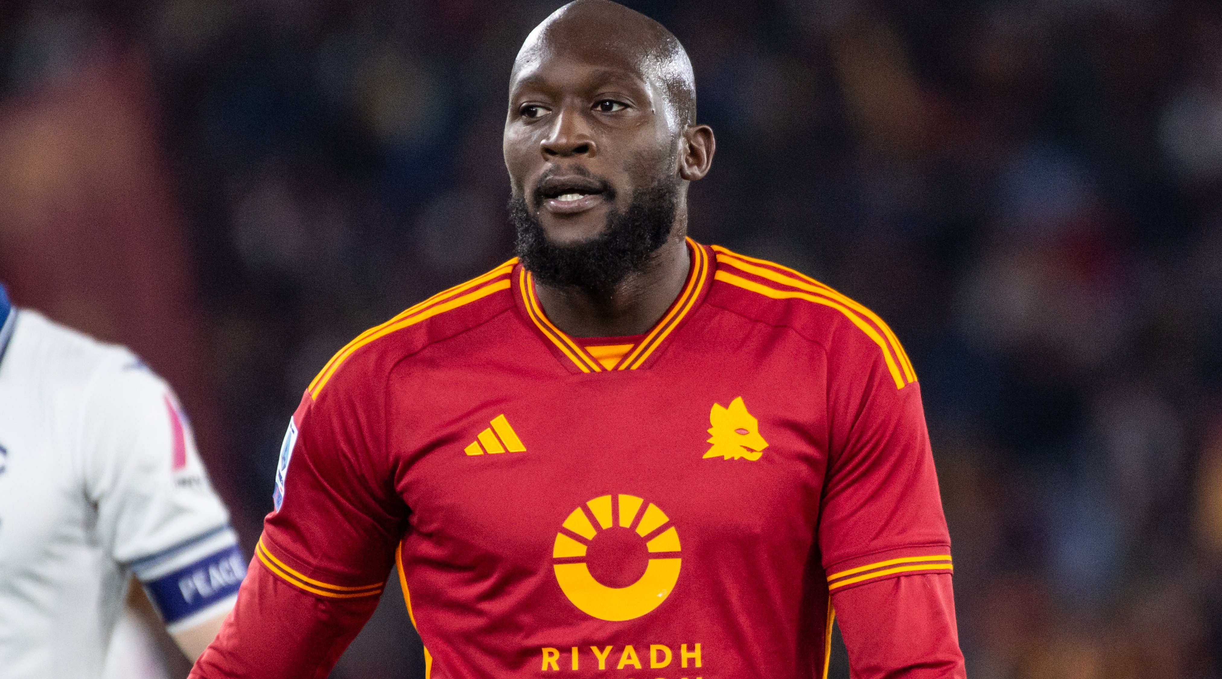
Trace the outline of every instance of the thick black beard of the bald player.
{"type": "Polygon", "coordinates": [[[601,234],[571,247],[547,241],[525,199],[514,195],[510,198],[510,221],[518,234],[518,259],[544,285],[606,294],[666,244],[678,211],[678,193],[677,180],[639,191],[627,210],[607,215],[601,234]]]}

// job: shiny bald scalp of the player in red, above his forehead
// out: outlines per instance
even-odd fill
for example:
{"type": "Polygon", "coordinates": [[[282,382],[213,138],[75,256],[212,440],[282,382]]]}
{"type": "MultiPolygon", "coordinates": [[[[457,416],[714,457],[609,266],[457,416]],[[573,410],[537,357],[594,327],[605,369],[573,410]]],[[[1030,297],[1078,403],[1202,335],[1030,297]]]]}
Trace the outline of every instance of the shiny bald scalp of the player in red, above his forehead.
{"type": "Polygon", "coordinates": [[[659,87],[672,129],[695,125],[695,74],[687,50],[665,26],[609,0],[576,0],[527,35],[511,81],[549,56],[616,64],[659,87]]]}

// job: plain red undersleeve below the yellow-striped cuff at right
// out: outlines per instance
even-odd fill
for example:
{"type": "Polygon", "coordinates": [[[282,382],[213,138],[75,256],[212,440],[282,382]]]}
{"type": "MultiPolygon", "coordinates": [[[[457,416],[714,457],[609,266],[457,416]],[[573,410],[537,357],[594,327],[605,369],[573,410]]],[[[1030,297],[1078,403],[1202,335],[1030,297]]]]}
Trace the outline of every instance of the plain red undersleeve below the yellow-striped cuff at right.
{"type": "Polygon", "coordinates": [[[908,575],[832,595],[853,679],[965,679],[948,574],[908,575]]]}

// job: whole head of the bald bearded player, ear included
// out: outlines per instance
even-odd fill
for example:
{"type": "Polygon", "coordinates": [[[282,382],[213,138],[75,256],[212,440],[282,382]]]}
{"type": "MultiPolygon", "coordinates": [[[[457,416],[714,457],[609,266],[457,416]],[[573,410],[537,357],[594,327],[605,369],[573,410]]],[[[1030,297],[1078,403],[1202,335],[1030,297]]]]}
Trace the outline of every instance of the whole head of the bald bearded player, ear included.
{"type": "Polygon", "coordinates": [[[623,5],[569,2],[527,37],[508,104],[510,215],[535,281],[604,302],[649,276],[682,285],[687,187],[715,142],[678,39],[623,5]]]}

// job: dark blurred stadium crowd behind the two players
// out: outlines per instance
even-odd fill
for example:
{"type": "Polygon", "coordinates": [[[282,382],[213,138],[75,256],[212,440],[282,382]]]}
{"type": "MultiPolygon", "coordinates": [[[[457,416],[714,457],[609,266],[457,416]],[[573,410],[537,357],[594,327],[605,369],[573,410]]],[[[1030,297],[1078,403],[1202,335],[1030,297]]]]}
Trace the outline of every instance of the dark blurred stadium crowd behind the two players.
{"type": "MultiPolygon", "coordinates": [[[[248,553],[330,354],[510,256],[506,82],[558,4],[0,1],[0,281],[174,383],[248,553]]],[[[717,134],[692,234],[912,355],[969,674],[1222,677],[1218,5],[626,4],[717,134]]],[[[423,677],[393,585],[334,677],[423,677]]]]}

